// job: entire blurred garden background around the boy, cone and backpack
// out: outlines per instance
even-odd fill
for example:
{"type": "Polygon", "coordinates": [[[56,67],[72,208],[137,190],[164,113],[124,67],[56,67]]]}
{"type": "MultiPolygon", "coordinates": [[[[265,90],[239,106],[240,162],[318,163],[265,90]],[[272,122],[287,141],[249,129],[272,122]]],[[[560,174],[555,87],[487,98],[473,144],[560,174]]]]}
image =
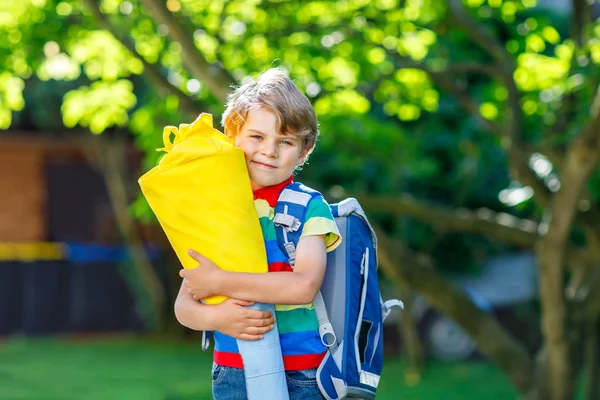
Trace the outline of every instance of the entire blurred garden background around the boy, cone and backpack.
{"type": "Polygon", "coordinates": [[[137,185],[283,67],[380,237],[378,399],[597,399],[593,0],[0,0],[0,399],[209,399],[137,185]],[[546,374],[542,373],[543,371],[546,374]]]}

